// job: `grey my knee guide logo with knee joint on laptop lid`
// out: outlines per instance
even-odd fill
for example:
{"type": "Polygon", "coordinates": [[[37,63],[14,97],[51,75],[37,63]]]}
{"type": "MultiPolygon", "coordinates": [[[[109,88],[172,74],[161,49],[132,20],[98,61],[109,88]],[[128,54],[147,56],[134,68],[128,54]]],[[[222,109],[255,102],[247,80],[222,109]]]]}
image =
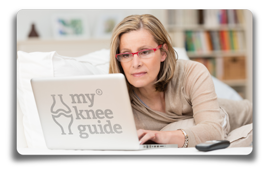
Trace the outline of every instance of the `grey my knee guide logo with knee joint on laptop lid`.
{"type": "MultiPolygon", "coordinates": [[[[102,91],[100,89],[97,89],[96,94],[102,95],[102,91]]],[[[55,94],[50,94],[53,99],[53,103],[50,108],[50,112],[52,113],[52,119],[60,127],[62,135],[67,135],[67,132],[68,135],[73,135],[71,125],[73,124],[74,118],[75,120],[87,120],[87,122],[89,123],[88,125],[77,125],[76,129],[79,130],[80,138],[82,139],[88,138],[90,134],[122,133],[121,125],[112,124],[111,122],[111,119],[114,118],[113,111],[111,109],[91,109],[94,106],[96,94],[68,94],[71,97],[70,103],[72,104],[71,108],[74,109],[74,114],[76,115],[75,117],[73,117],[70,107],[67,106],[67,104],[63,101],[63,94],[57,94],[58,97],[55,94]],[[60,99],[60,101],[58,101],[58,98],[60,99]],[[79,106],[75,106],[75,104],[80,103],[87,104],[89,109],[79,109],[79,106]],[[61,105],[59,106],[58,104],[61,105]],[[62,124],[61,121],[66,121],[66,118],[70,118],[70,122],[67,122],[67,124],[62,124]],[[101,122],[103,121],[105,121],[105,125],[103,123],[101,124],[101,122]],[[63,127],[62,125],[64,125],[65,127],[63,127]]]]}

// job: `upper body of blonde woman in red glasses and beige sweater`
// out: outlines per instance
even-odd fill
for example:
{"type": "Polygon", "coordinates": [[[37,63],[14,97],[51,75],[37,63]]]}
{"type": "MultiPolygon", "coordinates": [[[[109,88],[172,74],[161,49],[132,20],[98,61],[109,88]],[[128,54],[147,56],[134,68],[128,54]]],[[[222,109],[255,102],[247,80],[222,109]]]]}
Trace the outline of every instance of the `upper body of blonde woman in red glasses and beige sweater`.
{"type": "Polygon", "coordinates": [[[224,140],[229,116],[218,104],[209,71],[201,63],[177,60],[170,42],[152,15],[128,16],[113,30],[109,73],[127,78],[140,144],[194,147],[224,140]]]}

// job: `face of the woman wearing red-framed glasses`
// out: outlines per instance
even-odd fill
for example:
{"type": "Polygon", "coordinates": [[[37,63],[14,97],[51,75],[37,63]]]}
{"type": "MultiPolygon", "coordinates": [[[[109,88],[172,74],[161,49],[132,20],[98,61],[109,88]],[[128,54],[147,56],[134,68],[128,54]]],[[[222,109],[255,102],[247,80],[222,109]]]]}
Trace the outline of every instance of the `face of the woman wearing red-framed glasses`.
{"type": "MultiPolygon", "coordinates": [[[[153,36],[146,30],[131,31],[120,37],[119,53],[137,52],[143,49],[156,48],[159,45],[154,41],[153,36]]],[[[167,49],[167,45],[164,45],[167,49]]],[[[159,49],[153,57],[140,59],[134,54],[134,59],[128,62],[120,62],[127,80],[136,88],[146,87],[157,81],[160,70],[160,63],[167,57],[165,52],[159,49]]]]}

